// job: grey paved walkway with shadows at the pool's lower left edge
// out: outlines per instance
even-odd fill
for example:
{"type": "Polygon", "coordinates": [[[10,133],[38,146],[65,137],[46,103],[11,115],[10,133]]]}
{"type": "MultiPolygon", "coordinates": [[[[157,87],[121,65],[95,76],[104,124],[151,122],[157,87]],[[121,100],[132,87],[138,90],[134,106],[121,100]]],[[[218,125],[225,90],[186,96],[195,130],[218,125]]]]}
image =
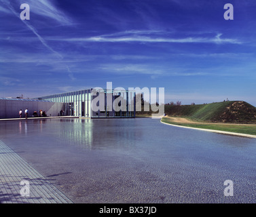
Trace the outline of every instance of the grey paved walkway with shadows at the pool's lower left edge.
{"type": "Polygon", "coordinates": [[[0,203],[73,202],[0,140],[0,203]],[[29,185],[21,185],[22,180],[29,185]]]}

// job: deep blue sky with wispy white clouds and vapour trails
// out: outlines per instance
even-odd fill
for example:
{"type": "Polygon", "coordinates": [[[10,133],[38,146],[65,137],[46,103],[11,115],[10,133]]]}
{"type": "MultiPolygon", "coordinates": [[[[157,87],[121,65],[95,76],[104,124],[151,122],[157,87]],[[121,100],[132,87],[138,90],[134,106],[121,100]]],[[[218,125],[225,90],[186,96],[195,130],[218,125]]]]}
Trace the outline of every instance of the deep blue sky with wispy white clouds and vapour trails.
{"type": "Polygon", "coordinates": [[[255,11],[254,0],[0,0],[0,97],[111,81],[164,87],[166,102],[256,106],[255,11]],[[223,18],[225,3],[234,20],[223,18]]]}

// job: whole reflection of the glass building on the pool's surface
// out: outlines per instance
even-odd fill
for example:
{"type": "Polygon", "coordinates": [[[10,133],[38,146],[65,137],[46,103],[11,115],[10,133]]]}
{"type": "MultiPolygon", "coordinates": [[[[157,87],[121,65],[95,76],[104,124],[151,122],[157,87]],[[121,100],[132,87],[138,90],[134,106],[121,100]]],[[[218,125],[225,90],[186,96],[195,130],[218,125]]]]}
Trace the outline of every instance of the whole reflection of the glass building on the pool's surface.
{"type": "Polygon", "coordinates": [[[134,121],[131,119],[122,119],[122,121],[115,121],[114,119],[58,119],[58,121],[60,122],[55,133],[58,136],[58,141],[63,144],[79,146],[81,149],[105,147],[130,149],[136,144],[138,138],[143,136],[141,130],[136,132],[133,130],[134,121]],[[129,130],[127,130],[127,125],[130,125],[129,130]]]}

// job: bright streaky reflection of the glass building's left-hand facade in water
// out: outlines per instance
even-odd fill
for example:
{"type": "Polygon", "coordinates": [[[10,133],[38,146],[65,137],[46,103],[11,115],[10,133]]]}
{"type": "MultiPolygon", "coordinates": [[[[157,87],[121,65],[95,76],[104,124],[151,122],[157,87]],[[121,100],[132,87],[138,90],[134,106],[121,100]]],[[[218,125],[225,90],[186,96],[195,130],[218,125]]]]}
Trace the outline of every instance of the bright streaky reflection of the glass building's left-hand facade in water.
{"type": "Polygon", "coordinates": [[[92,148],[91,119],[60,119],[59,134],[63,142],[69,142],[81,148],[92,148]],[[67,124],[63,123],[67,122],[67,124]],[[73,123],[72,125],[69,123],[73,123]]]}

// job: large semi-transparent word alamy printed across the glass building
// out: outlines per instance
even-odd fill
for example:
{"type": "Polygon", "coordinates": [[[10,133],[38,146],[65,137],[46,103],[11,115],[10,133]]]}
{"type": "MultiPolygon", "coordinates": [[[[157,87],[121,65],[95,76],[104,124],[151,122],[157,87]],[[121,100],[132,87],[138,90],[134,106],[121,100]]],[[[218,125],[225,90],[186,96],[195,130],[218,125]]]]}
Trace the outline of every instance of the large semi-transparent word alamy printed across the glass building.
{"type": "Polygon", "coordinates": [[[126,111],[152,111],[152,117],[164,115],[164,87],[116,87],[107,82],[107,88],[94,87],[92,89],[92,111],[94,112],[126,112],[126,111]],[[143,95],[143,103],[141,96],[143,95]]]}

